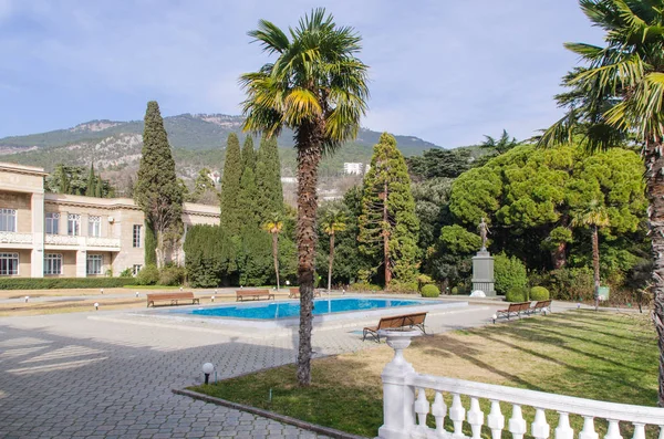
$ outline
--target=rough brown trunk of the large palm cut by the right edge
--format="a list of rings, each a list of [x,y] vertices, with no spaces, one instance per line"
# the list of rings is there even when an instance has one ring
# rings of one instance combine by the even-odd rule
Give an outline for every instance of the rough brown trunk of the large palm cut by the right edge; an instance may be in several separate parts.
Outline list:
[[[650,237],[653,245],[653,283],[654,295],[653,322],[657,331],[660,347],[660,391],[658,405],[664,407],[664,155],[662,140],[649,143],[645,149],[645,179],[650,199],[649,220]]]

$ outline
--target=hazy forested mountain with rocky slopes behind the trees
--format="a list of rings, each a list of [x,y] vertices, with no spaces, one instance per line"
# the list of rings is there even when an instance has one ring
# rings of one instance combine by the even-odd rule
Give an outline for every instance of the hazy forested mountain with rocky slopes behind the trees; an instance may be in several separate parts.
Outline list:
[[[203,167],[221,169],[224,146],[230,133],[243,142],[243,118],[224,114],[180,114],[164,118],[168,140],[174,149],[178,174],[185,179],[195,178]],[[143,121],[91,121],[68,129],[27,136],[0,138],[0,161],[42,166],[48,171],[59,163],[90,166],[107,173],[132,173],[141,159]],[[336,175],[344,161],[369,163],[372,148],[381,133],[362,128],[357,138],[344,145],[321,165],[322,175]],[[396,136],[405,156],[419,155],[437,146],[413,136]],[[258,142],[256,142],[258,146]],[[293,175],[295,151],[292,132],[279,137],[284,175]]]

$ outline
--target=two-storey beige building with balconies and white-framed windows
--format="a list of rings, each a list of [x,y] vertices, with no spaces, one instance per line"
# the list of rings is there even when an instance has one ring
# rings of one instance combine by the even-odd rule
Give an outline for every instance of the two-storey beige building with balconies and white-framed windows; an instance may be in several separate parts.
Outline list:
[[[42,168],[0,163],[0,276],[86,278],[144,264],[143,211],[128,198],[45,194]],[[219,208],[185,203],[185,231]],[[184,261],[181,250],[175,259]]]

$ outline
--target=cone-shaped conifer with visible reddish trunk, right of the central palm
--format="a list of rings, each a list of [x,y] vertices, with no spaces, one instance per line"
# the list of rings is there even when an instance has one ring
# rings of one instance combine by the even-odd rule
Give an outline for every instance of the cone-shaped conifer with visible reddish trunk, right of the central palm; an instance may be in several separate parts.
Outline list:
[[[418,231],[406,161],[396,139],[383,133],[364,177],[359,240],[360,251],[374,269],[383,266],[386,286],[393,276],[401,282],[415,280]]]

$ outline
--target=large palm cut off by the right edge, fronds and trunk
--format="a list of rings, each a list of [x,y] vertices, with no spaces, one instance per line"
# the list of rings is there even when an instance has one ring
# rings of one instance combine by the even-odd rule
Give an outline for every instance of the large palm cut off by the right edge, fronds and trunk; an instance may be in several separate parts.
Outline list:
[[[643,148],[653,249],[653,320],[660,346],[660,405],[664,406],[664,2],[580,0],[604,46],[567,43],[585,65],[572,70],[558,95],[566,115],[539,138],[543,146],[580,142],[591,150]]]

